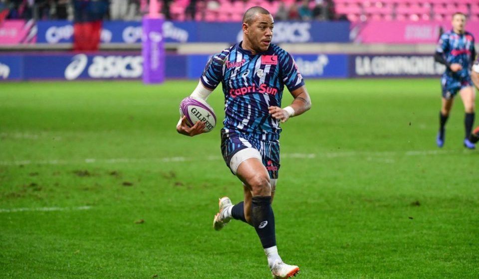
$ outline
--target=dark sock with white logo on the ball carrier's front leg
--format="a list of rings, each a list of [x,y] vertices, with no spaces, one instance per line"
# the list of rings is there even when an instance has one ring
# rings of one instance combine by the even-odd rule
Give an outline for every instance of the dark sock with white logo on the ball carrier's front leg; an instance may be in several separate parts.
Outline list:
[[[263,249],[276,246],[271,196],[251,198],[251,223],[259,236]]]

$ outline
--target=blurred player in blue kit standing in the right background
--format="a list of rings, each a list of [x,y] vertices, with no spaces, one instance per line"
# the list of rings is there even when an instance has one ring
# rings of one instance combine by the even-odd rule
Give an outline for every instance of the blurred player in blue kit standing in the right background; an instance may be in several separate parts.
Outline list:
[[[471,81],[471,66],[476,58],[474,36],[465,30],[466,15],[456,12],[452,19],[453,29],[445,32],[439,39],[434,58],[437,62],[446,65],[442,84],[442,106],[439,113],[439,133],[436,143],[443,147],[446,137],[446,122],[453,106],[454,97],[459,93],[464,103],[466,115],[464,125],[466,136],[464,146],[474,149],[476,145],[470,141],[469,136],[474,125],[476,93]]]

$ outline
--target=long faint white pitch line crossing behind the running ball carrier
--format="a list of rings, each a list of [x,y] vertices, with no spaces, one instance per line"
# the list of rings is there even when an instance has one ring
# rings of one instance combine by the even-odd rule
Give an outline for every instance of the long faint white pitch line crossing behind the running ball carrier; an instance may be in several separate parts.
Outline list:
[[[457,153],[455,150],[414,150],[414,151],[344,151],[344,152],[321,152],[321,153],[284,153],[281,154],[281,158],[298,158],[298,159],[315,159],[315,158],[342,158],[342,157],[355,157],[355,156],[366,156],[366,157],[386,157],[391,156],[421,156],[421,155],[443,155]],[[464,150],[463,153],[468,153],[467,150]],[[206,156],[203,159],[209,161],[222,160],[221,156],[210,155]],[[112,159],[97,159],[97,158],[86,158],[78,160],[18,160],[18,161],[0,161],[0,165],[9,166],[9,165],[29,165],[29,164],[38,164],[38,165],[64,165],[64,164],[79,164],[79,163],[165,163],[165,162],[186,162],[186,161],[195,161],[199,160],[196,157],[163,157],[163,158],[112,158]]]

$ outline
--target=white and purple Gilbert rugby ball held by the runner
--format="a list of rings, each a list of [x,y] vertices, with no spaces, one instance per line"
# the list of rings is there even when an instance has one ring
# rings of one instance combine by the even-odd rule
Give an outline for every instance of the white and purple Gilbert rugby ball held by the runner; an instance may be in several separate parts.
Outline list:
[[[180,116],[186,116],[189,127],[195,125],[197,121],[205,122],[203,131],[210,132],[216,126],[216,115],[213,108],[204,100],[186,97],[180,103]]]

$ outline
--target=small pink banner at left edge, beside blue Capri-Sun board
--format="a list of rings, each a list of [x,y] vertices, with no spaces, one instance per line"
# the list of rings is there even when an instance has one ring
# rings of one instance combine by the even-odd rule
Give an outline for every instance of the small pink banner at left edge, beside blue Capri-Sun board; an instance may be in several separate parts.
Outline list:
[[[36,28],[33,21],[4,20],[0,23],[0,45],[34,43]]]

